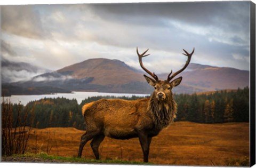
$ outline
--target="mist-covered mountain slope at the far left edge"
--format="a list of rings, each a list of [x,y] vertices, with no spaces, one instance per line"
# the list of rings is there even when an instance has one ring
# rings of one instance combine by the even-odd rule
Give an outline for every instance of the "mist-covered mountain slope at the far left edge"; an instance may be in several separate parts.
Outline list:
[[[11,83],[26,81],[31,77],[50,72],[51,70],[30,65],[25,62],[12,62],[2,58],[1,60],[1,82]]]

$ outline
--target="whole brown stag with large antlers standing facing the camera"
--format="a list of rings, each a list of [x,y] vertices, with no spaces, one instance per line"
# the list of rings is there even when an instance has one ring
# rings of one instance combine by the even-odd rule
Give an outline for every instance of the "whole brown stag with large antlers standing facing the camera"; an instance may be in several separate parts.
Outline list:
[[[114,139],[139,138],[143,152],[143,162],[148,162],[151,139],[164,128],[174,122],[177,115],[177,103],[173,99],[172,88],[181,83],[182,76],[175,78],[187,68],[195,48],[191,53],[183,49],[187,56],[185,65],[178,71],[167,76],[165,81],[158,79],[142,63],[142,58],[147,57],[147,49],[142,54],[137,54],[140,67],[146,71],[146,81],[154,87],[149,98],[137,100],[100,99],[83,105],[82,115],[85,119],[86,131],[81,136],[77,157],[81,157],[87,141],[96,159],[100,159],[99,146],[105,137]]]

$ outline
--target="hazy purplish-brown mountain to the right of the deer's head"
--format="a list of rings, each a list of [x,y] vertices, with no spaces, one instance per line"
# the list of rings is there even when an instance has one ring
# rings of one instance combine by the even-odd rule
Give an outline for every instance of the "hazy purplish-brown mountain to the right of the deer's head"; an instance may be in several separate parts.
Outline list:
[[[161,74],[161,76],[167,75]],[[250,78],[249,71],[246,70],[229,67],[213,67],[197,63],[190,63],[187,69],[179,75],[183,77],[181,85],[189,87],[189,92],[243,88],[249,86]]]

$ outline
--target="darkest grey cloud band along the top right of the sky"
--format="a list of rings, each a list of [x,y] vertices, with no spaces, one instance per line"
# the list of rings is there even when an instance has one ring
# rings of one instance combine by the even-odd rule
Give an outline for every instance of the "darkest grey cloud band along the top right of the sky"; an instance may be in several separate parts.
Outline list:
[[[238,33],[248,32],[250,22],[249,2],[93,4],[90,7],[106,20],[145,28],[169,27],[165,22],[167,19]]]

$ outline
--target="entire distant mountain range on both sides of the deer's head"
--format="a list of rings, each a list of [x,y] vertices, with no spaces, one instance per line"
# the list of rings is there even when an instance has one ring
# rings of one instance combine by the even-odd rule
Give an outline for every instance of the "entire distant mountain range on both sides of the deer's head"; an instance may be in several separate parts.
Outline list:
[[[146,93],[148,85],[143,71],[119,60],[89,59],[57,71],[36,75],[30,80],[2,84],[2,93],[49,94],[71,91],[96,91],[113,93]],[[168,74],[159,74],[165,79]],[[249,86],[249,71],[226,67],[212,67],[190,63],[180,76],[181,84],[175,93],[195,93]],[[6,80],[8,81],[8,80]]]

